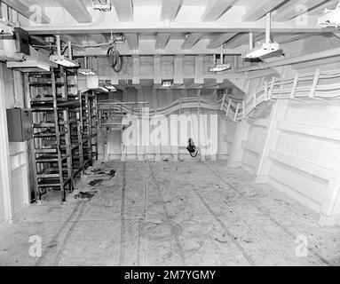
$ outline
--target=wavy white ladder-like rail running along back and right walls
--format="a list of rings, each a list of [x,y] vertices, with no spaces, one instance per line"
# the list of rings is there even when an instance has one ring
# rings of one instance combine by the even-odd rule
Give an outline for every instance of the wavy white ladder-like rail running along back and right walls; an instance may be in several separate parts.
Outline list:
[[[326,101],[340,97],[340,83],[320,83],[320,81],[340,79],[340,72],[337,70],[320,71],[303,75],[296,75],[294,78],[278,79],[273,77],[272,82],[264,83],[261,90],[255,90],[245,99],[233,99],[224,95],[223,99],[213,101],[210,99],[181,98],[170,103],[169,106],[149,108],[149,115],[169,115],[186,108],[206,108],[210,110],[224,111],[225,115],[239,122],[251,114],[257,106],[278,99],[292,100],[317,100]],[[112,103],[105,101],[99,106],[110,106],[108,110],[121,110],[127,114],[141,115],[142,109],[134,106],[146,106],[148,103],[122,102],[115,100]]]

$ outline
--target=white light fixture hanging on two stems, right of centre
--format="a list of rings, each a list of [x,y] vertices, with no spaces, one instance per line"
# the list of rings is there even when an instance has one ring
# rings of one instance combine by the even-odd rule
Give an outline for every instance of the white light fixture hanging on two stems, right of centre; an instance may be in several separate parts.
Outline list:
[[[271,54],[275,51],[280,51],[281,46],[279,43],[272,43],[271,40],[271,12],[268,12],[265,16],[266,25],[265,25],[265,43],[259,43],[259,46],[256,48],[252,48],[252,34],[250,34],[251,40],[249,41],[250,50],[245,51],[243,54],[243,58],[245,59],[258,59],[264,57],[265,55]]]

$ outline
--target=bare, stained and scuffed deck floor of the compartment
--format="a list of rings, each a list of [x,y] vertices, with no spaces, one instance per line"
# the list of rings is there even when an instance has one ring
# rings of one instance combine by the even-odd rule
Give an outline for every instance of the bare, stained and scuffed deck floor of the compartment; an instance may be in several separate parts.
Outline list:
[[[0,225],[0,265],[340,264],[339,227],[224,162],[99,162],[77,187],[96,193]],[[35,235],[41,257],[29,256]]]

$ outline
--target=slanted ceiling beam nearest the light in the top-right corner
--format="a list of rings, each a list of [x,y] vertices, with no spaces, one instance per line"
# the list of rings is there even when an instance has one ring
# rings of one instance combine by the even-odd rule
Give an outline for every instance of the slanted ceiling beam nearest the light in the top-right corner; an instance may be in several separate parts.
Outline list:
[[[290,1],[287,4],[284,4],[273,16],[273,20],[276,21],[286,21],[297,16],[303,15],[304,13],[311,11],[315,7],[320,6],[320,4],[324,4],[328,1],[325,0],[298,0],[298,1]]]

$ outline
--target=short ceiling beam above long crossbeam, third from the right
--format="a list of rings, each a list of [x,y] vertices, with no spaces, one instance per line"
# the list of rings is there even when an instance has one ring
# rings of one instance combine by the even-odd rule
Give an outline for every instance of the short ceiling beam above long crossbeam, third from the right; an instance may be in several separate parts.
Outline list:
[[[202,14],[202,21],[215,21],[233,7],[238,0],[213,0],[209,1],[205,12]]]

